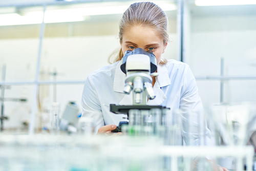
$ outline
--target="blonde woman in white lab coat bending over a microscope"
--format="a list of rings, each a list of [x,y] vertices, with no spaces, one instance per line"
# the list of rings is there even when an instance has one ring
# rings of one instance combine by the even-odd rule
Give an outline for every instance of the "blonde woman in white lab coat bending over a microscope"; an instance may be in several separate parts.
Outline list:
[[[156,56],[159,75],[152,76],[156,98],[148,100],[147,105],[180,109],[184,114],[203,110],[196,80],[189,66],[161,57],[168,42],[167,26],[165,13],[150,2],[132,4],[124,12],[119,25],[121,49],[116,62],[89,75],[83,89],[82,115],[95,119],[95,130],[99,134],[110,133],[120,121],[125,120],[124,115],[110,112],[110,104],[132,105],[132,93],[123,93],[125,74],[120,69],[120,60],[127,50],[142,48],[153,51]],[[205,130],[209,137],[209,130]],[[188,137],[186,134],[185,129],[185,141]]]

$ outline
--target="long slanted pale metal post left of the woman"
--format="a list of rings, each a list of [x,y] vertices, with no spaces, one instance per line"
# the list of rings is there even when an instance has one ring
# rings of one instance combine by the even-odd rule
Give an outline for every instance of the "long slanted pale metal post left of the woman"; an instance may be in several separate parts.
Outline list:
[[[38,77],[40,71],[40,60],[41,60],[41,49],[42,49],[42,39],[44,38],[45,34],[45,12],[46,12],[46,4],[44,5],[44,14],[42,17],[42,23],[40,27],[40,39],[39,39],[39,47],[38,47],[38,56],[37,56],[37,66],[36,66],[36,75],[35,75],[35,85],[34,85],[34,99],[32,101],[31,106],[31,115],[30,115],[30,122],[29,122],[29,135],[34,135],[35,132],[35,113],[36,113],[36,105],[37,105],[37,92],[38,92]]]

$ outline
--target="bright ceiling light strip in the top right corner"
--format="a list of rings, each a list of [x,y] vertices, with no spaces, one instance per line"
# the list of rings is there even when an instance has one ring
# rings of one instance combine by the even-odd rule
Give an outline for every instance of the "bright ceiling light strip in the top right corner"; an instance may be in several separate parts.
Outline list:
[[[197,6],[251,5],[255,0],[195,0]]]

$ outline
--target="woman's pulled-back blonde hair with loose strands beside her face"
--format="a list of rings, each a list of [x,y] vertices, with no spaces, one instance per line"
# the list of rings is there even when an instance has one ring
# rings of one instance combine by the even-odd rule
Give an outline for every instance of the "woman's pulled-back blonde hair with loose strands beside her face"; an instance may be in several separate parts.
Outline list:
[[[163,44],[168,42],[168,19],[164,11],[156,4],[151,2],[140,2],[132,4],[122,16],[119,23],[119,41],[122,42],[123,32],[125,29],[133,26],[148,26],[156,29],[158,35],[163,39]],[[115,50],[109,57],[111,62],[112,56],[115,56],[114,62],[119,61],[123,57],[122,49],[119,52]],[[161,58],[160,64],[167,63],[165,58]]]

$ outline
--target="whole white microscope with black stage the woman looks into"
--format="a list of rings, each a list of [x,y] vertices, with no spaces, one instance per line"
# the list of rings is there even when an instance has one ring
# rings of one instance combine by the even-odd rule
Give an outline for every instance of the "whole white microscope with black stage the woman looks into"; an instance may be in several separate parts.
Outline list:
[[[121,70],[126,74],[125,94],[133,93],[133,105],[110,104],[110,111],[115,114],[127,114],[129,120],[129,110],[151,110],[154,108],[163,109],[160,105],[146,105],[147,98],[152,100],[156,97],[152,87],[152,77],[157,76],[157,60],[153,51],[145,51],[136,48],[133,51],[126,51],[121,60]],[[121,125],[128,122],[119,122],[116,130],[121,132]]]

